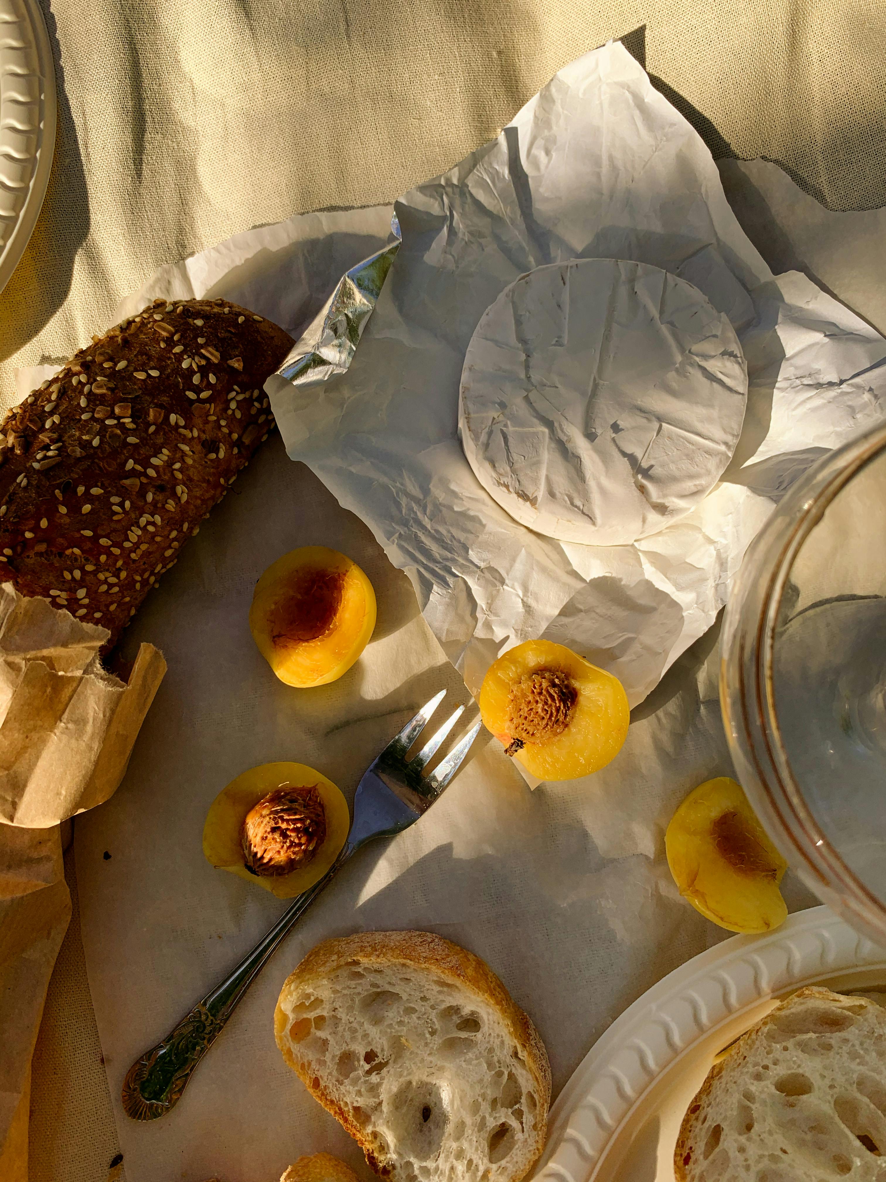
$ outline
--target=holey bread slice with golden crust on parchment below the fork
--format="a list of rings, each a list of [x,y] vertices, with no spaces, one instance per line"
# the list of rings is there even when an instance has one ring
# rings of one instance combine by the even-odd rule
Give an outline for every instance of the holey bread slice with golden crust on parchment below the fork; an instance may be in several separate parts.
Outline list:
[[[395,1182],[517,1182],[541,1154],[545,1046],[495,973],[441,936],[318,944],[274,1027],[308,1091]]]

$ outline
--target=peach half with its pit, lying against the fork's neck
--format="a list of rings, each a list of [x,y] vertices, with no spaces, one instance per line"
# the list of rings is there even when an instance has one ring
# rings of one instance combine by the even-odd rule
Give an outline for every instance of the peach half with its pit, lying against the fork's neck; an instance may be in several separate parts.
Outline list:
[[[287,793],[286,790],[294,792]],[[274,798],[287,795],[294,798],[295,810],[284,810],[281,817],[281,810],[274,808]],[[299,798],[306,807],[298,807]],[[271,805],[271,814],[265,807],[267,805]],[[307,826],[308,837],[321,834],[320,839],[313,844],[311,840],[301,842],[300,856],[291,857],[292,862],[299,863],[297,869],[276,872],[280,868],[275,868],[268,857],[273,850],[262,849],[260,843],[266,840],[276,850],[282,850],[285,856],[291,856],[293,837],[298,849],[301,834],[287,832],[287,821],[292,825],[294,818],[298,827],[305,817],[311,823]],[[250,831],[248,821],[255,819],[258,824]],[[232,780],[210,805],[203,825],[203,853],[217,870],[229,870],[247,882],[263,886],[278,898],[293,898],[323,878],[341,852],[350,827],[347,801],[321,772],[305,764],[261,764]],[[250,832],[252,843],[248,839]],[[256,866],[258,870],[254,869]]]

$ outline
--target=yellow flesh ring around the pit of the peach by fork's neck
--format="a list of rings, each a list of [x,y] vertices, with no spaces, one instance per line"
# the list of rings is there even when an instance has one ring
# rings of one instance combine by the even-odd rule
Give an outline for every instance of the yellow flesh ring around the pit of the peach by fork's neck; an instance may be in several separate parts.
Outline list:
[[[288,875],[259,877],[246,869],[240,844],[246,814],[279,787],[315,787],[326,816],[326,837],[307,865]],[[351,829],[347,801],[332,780],[305,764],[261,764],[237,775],[209,806],[203,825],[203,853],[217,870],[228,870],[263,886],[278,898],[294,898],[326,873],[341,852]]]

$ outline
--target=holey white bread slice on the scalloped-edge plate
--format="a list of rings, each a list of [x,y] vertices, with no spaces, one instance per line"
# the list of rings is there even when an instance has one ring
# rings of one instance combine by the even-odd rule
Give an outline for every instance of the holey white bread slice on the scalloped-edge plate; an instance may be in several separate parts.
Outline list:
[[[886,1182],[886,1011],[800,989],[716,1063],[689,1106],[678,1182]]]

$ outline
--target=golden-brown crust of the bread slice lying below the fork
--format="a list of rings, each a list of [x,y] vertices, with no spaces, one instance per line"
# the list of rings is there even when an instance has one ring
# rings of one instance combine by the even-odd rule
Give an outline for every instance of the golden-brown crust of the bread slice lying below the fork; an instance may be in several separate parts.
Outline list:
[[[324,940],[317,944],[297,966],[284,982],[280,998],[298,989],[311,988],[311,982],[323,980],[344,965],[359,962],[366,965],[415,965],[426,972],[443,978],[452,978],[461,985],[478,994],[483,1001],[493,1006],[502,1017],[514,1041],[521,1047],[528,1067],[539,1091],[539,1130],[538,1141],[523,1177],[535,1164],[545,1147],[547,1134],[547,1110],[551,1104],[551,1064],[541,1035],[528,1014],[514,1002],[500,979],[493,973],[486,961],[474,953],[454,944],[443,936],[431,931],[364,931],[337,940]],[[284,1059],[299,1076],[307,1090],[331,1112],[363,1149],[370,1167],[382,1176],[390,1174],[390,1168],[383,1165],[373,1155],[372,1145],[361,1129],[324,1086],[324,1082],[308,1078],[297,1064],[286,1040],[288,1018],[280,1005],[274,1012],[274,1033],[276,1045]],[[516,1182],[516,1180],[515,1180]]]

